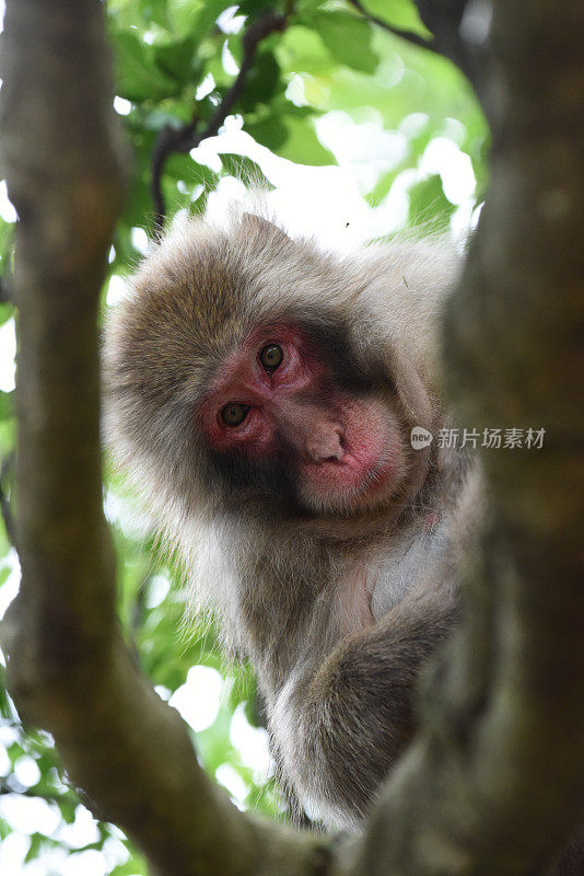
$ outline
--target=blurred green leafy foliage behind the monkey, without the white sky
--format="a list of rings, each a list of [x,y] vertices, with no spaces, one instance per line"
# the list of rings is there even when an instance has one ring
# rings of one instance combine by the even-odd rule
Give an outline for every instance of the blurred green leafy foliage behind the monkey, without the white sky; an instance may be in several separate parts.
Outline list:
[[[233,107],[244,131],[295,163],[326,165],[342,160],[355,176],[366,163],[373,169],[373,178],[369,173],[359,183],[370,208],[382,209],[399,192],[406,198],[407,221],[423,222],[424,227],[443,227],[444,217],[447,220],[460,209],[460,204],[448,199],[443,174],[428,169],[429,146],[447,141],[458,157],[468,157],[477,183],[471,198],[475,204],[480,201],[486,185],[486,125],[468,84],[448,61],[372,25],[348,3],[299,0],[271,4],[276,7],[287,26],[258,44]],[[132,171],[104,298],[112,281],[141,256],[143,231],[153,232],[152,155],[161,132],[188,125],[205,129],[233,84],[245,55],[246,31],[266,9],[261,0],[244,0],[238,7],[229,0],[109,0],[115,107],[131,145]],[[395,26],[427,34],[410,0],[371,0],[367,9]],[[336,120],[336,140],[325,136],[328,128],[319,119]],[[339,131],[360,129],[365,135],[386,131],[399,148],[385,159],[377,154],[373,160],[365,136],[355,140],[348,159],[339,158],[343,153]],[[210,193],[225,177],[269,186],[269,174],[249,157],[221,149],[218,155],[212,166],[189,155],[188,149],[167,155],[161,186],[170,217],[179,209],[201,214]],[[4,288],[11,247],[11,224],[0,218]],[[12,316],[10,303],[0,303],[0,331],[11,331]],[[0,391],[0,456],[4,460],[3,505],[12,516],[14,441],[13,392],[9,388]],[[105,507],[119,561],[120,618],[141,666],[164,698],[185,684],[192,666],[222,669],[222,701],[209,726],[196,734],[198,751],[206,768],[235,789],[241,805],[273,816],[280,804],[272,781],[264,777],[258,783],[250,761],[230,737],[234,714],[241,719],[245,711],[252,726],[261,721],[250,673],[246,668],[221,666],[212,630],[180,633],[180,576],[155,550],[152,558],[155,545],[149,521],[114,476],[108,481]],[[13,593],[16,576],[15,553],[0,523],[0,607]],[[117,876],[144,873],[143,862],[116,828],[97,821],[85,831],[87,841],[81,829],[67,832],[65,826],[80,819],[83,810],[75,793],[62,782],[50,737],[23,729],[5,691],[0,710],[0,776],[4,776],[0,839],[4,849],[11,842],[24,849],[27,863],[23,873],[77,873],[81,867]],[[254,738],[259,740],[259,736]],[[31,821],[28,828],[23,825],[16,808],[5,805],[14,798],[42,802],[44,827],[36,829]],[[91,857],[97,853],[98,858]]]

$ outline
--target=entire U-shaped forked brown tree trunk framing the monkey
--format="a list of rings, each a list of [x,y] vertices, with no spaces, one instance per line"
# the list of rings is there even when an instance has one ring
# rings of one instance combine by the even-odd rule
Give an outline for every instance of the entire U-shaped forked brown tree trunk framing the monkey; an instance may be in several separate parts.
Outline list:
[[[475,5],[477,5],[475,3]],[[34,47],[34,49],[32,48]],[[544,427],[484,456],[492,512],[465,621],[361,840],[238,812],[133,666],[101,509],[95,318],[120,204],[97,0],[9,0],[2,162],[20,215],[19,543],[4,643],[24,717],[159,874],[542,873],[584,808],[584,7],[494,3],[489,203],[445,325],[472,428]],[[152,757],[152,747],[156,750]]]

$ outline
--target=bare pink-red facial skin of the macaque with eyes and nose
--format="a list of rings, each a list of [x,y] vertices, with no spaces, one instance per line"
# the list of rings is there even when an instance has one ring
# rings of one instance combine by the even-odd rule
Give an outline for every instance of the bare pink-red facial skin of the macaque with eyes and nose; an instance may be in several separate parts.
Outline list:
[[[250,463],[284,460],[313,511],[373,508],[407,475],[398,419],[387,402],[337,385],[325,359],[293,326],[254,332],[211,384],[203,433],[219,453]]]

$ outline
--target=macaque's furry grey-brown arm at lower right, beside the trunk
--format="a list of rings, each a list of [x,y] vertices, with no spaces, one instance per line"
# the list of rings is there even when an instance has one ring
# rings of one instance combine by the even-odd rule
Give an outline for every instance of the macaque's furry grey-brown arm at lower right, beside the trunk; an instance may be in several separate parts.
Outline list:
[[[300,784],[331,822],[363,816],[413,729],[421,666],[456,623],[456,597],[420,588],[375,625],[342,639],[296,688]]]

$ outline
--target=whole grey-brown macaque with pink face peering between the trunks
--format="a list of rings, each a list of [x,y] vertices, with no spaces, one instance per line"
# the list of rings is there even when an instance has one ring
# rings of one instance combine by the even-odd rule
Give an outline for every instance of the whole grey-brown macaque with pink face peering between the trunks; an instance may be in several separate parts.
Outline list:
[[[241,210],[171,232],[106,328],[106,439],[252,661],[291,795],[329,827],[362,820],[456,622],[476,472],[410,438],[447,423],[456,273],[447,245],[332,255]]]

